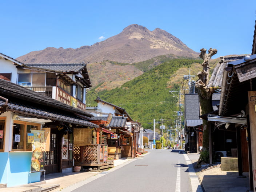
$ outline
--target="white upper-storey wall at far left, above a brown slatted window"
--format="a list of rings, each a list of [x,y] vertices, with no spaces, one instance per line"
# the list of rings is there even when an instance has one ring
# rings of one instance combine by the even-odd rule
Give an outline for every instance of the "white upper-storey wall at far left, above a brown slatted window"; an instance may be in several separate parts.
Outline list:
[[[1,73],[12,73],[12,83],[17,82],[17,68],[12,61],[0,58]]]

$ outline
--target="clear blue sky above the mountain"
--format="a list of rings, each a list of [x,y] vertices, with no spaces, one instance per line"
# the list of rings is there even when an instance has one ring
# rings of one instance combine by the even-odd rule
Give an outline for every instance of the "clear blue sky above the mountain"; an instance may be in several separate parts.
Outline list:
[[[46,47],[78,48],[131,24],[160,28],[213,57],[251,54],[256,0],[1,0],[0,53],[17,58]]]

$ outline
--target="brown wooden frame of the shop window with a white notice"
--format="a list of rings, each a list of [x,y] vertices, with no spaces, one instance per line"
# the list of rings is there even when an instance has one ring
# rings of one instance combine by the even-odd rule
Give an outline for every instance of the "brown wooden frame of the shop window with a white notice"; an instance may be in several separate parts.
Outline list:
[[[13,124],[21,124],[24,125],[24,133],[23,133],[23,149],[12,149],[12,151],[32,151],[32,149],[26,149],[26,142],[27,142],[27,125],[33,125],[37,126],[37,130],[41,130],[41,124],[37,123],[32,123],[32,122],[27,122],[27,121],[19,121],[19,120],[14,120]],[[13,147],[13,124],[12,124],[12,147]],[[20,135],[21,137],[21,135]]]

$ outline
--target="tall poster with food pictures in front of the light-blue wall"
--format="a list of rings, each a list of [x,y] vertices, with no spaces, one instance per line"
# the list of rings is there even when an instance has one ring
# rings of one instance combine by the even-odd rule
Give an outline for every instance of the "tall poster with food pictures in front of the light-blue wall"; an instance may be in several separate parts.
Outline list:
[[[28,136],[29,139],[34,140],[32,143],[31,172],[44,171],[46,149],[44,131],[31,130],[31,134]]]

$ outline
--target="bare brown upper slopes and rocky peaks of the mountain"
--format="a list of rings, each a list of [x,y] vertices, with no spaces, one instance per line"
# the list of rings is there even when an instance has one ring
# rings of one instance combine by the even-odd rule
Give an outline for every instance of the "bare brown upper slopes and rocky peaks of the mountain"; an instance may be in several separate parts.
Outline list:
[[[47,47],[32,51],[17,60],[23,63],[92,63],[112,60],[120,63],[136,63],[159,55],[198,57],[177,37],[156,28],[153,31],[137,24],[129,25],[121,33],[92,46],[77,49]]]

